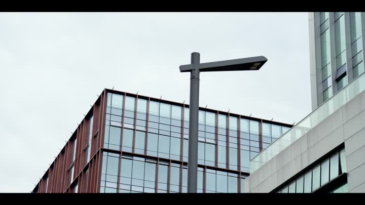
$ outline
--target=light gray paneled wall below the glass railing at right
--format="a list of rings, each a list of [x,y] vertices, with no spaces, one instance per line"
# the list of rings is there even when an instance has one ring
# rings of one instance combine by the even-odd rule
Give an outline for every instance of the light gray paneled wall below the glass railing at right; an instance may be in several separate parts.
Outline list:
[[[349,192],[365,192],[365,91],[324,119],[245,180],[248,192],[270,192],[345,143]]]

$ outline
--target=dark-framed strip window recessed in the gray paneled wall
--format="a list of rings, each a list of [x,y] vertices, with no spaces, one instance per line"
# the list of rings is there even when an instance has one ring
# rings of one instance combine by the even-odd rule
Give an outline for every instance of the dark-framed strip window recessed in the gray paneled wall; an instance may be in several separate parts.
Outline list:
[[[331,156],[321,160],[303,175],[285,182],[285,184],[282,185],[283,188],[278,188],[277,193],[287,193],[287,189],[289,190],[289,193],[311,193],[318,190],[320,187],[331,183],[336,177],[346,172],[345,149],[342,148]],[[333,192],[346,191],[346,186],[347,183],[343,186],[341,185],[338,189],[333,190]]]

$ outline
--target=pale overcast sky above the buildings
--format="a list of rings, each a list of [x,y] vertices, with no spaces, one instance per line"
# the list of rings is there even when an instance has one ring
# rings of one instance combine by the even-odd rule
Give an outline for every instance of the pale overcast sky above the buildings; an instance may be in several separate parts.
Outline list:
[[[0,13],[0,192],[29,192],[104,88],[189,102],[192,52],[263,55],[201,73],[200,106],[293,124],[310,113],[308,13]]]

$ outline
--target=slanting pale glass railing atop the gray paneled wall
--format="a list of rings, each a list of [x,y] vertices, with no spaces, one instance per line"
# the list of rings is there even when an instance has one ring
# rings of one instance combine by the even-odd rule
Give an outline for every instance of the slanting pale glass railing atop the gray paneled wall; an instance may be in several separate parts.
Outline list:
[[[284,135],[278,138],[266,149],[261,151],[257,156],[251,159],[250,173],[258,170],[260,167],[265,165],[270,159],[293,144],[296,140],[301,138],[305,133],[310,131],[316,125],[319,124],[326,117],[330,116],[341,106],[349,102],[359,93],[365,90],[365,73],[362,73],[354,80],[345,86],[341,91],[336,93],[330,99],[326,100],[312,113],[302,119],[296,126],[288,130]]]

